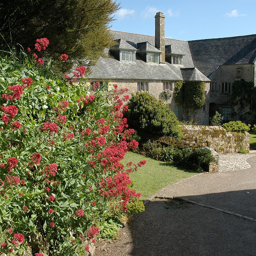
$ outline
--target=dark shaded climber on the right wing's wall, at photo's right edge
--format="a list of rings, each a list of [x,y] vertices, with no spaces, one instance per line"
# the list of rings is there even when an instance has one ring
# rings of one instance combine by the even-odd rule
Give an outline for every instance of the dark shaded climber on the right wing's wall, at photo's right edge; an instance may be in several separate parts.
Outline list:
[[[236,80],[232,84],[230,104],[233,113],[231,116],[236,117],[238,115],[239,120],[245,123],[251,121],[255,123],[256,121],[256,89],[253,87],[253,82],[246,82],[244,79]]]

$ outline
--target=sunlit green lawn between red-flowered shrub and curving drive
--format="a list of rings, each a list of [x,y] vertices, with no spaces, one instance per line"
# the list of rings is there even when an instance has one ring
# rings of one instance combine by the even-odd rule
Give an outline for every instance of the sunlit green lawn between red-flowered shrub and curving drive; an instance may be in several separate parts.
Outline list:
[[[137,172],[130,173],[131,180],[135,181],[133,189],[141,193],[140,200],[145,200],[168,184],[196,174],[196,172],[177,168],[172,166],[172,164],[132,152],[126,153],[125,159],[122,162],[124,164],[128,162],[138,163],[141,160],[146,160],[146,165],[138,168]]]

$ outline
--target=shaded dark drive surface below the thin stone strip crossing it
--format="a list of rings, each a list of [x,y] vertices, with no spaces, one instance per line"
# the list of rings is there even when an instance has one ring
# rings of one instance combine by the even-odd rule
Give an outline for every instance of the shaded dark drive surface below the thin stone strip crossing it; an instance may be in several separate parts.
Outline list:
[[[129,223],[129,255],[256,255],[255,221],[191,203],[166,209],[164,201],[149,202]]]

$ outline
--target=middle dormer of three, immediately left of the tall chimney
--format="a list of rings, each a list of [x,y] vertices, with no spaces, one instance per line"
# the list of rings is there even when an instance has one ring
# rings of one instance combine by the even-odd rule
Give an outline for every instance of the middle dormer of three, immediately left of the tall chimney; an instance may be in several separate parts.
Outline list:
[[[137,43],[137,54],[147,63],[159,64],[161,51],[148,42]]]

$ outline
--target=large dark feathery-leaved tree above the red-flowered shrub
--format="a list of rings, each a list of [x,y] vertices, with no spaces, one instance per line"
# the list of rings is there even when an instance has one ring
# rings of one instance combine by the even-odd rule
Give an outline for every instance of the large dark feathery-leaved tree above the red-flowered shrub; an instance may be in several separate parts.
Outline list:
[[[32,49],[37,38],[48,38],[44,57],[69,55],[63,71],[74,65],[89,67],[113,45],[109,24],[118,9],[113,0],[3,0],[1,49],[16,43]]]

